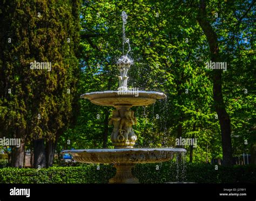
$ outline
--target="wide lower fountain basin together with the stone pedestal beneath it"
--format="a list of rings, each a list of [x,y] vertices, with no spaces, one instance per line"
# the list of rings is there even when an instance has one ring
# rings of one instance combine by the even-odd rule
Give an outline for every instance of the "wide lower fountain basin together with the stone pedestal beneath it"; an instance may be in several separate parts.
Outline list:
[[[131,169],[136,163],[159,163],[169,161],[176,153],[186,152],[182,148],[126,148],[126,149],[78,149],[64,150],[73,159],[82,163],[111,163],[117,174],[109,183],[138,183]]]

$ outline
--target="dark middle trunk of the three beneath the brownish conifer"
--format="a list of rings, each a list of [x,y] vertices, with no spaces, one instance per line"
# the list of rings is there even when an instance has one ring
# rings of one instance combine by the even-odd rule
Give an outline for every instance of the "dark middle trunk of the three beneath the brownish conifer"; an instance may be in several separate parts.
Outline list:
[[[35,140],[34,142],[34,168],[45,168],[45,146],[44,139]]]

